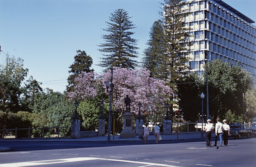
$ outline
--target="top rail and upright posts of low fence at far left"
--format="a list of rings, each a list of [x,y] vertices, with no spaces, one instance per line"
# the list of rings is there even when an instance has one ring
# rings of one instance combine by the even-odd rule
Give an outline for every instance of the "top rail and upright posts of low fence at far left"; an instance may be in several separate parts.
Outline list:
[[[2,136],[2,138],[4,138],[5,136],[7,135],[10,135],[11,134],[11,131],[14,131],[15,130],[15,138],[17,138],[17,130],[28,130],[28,138],[30,138],[30,130],[33,130],[33,129],[42,129],[42,138],[44,138],[44,130],[45,129],[58,129],[58,137],[59,137],[59,130],[60,128],[71,128],[70,126],[67,126],[67,127],[42,127],[42,128],[30,128],[30,126],[28,128],[15,128],[15,129],[5,129],[5,127],[3,127],[3,129],[0,129],[0,136]],[[2,135],[1,135],[1,132],[2,132]],[[13,133],[13,132],[12,132]]]

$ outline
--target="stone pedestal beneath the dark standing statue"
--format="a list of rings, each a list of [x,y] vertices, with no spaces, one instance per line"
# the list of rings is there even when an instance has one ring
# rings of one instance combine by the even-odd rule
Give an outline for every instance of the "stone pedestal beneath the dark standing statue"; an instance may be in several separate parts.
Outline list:
[[[133,131],[133,113],[126,112],[123,114],[123,131],[120,133],[119,138],[135,138],[136,134]]]

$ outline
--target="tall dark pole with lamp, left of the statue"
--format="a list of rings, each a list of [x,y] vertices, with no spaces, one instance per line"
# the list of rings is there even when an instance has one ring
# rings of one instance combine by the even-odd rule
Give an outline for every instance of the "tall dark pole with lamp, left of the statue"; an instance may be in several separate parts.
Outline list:
[[[109,84],[109,81],[111,82],[111,84]],[[107,83],[106,83],[107,91],[108,91],[108,88],[110,86],[108,141],[110,141],[110,135],[111,135],[111,120],[112,120],[111,110],[112,110],[112,95],[113,95],[113,68],[111,68],[111,79],[109,79],[109,81],[107,81]]]

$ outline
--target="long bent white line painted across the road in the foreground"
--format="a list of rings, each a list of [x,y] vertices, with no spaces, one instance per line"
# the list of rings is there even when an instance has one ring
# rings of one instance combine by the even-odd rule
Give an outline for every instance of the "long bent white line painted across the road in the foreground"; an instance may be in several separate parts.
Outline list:
[[[78,158],[67,158],[67,159],[57,159],[57,160],[16,162],[16,163],[9,163],[9,164],[0,164],[0,167],[38,166],[38,165],[49,165],[49,164],[58,164],[58,163],[67,163],[67,162],[88,161],[88,160],[107,160],[107,161],[118,161],[118,162],[127,162],[127,163],[144,164],[144,165],[178,167],[178,166],[166,165],[166,164],[156,164],[156,163],[148,163],[148,162],[127,161],[127,160],[115,160],[115,159],[104,159],[104,158],[95,158],[95,157],[78,157]]]

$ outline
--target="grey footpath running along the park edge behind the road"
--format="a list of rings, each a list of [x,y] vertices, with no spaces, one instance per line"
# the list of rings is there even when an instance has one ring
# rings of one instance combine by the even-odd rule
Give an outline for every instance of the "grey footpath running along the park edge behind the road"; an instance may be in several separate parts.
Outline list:
[[[214,133],[212,136],[214,136]],[[172,133],[172,135],[161,135],[162,140],[186,140],[186,139],[201,139],[205,138],[205,133],[203,135],[204,137],[201,137],[201,132],[179,132],[178,138],[177,133]],[[51,137],[51,138],[4,138],[0,139],[0,152],[8,151],[11,148],[2,147],[1,141],[8,141],[8,142],[23,142],[23,141],[59,141],[59,142],[131,142],[131,141],[141,141],[144,142],[144,140],[139,139],[139,136],[136,136],[136,138],[128,138],[128,139],[120,139],[119,135],[113,135],[110,136],[110,140],[108,141],[108,136],[96,136],[96,137],[86,137],[86,138],[80,138],[80,139],[70,139],[70,138],[58,138],[58,137]],[[155,141],[155,135],[150,135],[147,139],[148,141]]]

